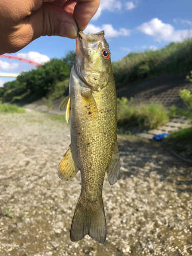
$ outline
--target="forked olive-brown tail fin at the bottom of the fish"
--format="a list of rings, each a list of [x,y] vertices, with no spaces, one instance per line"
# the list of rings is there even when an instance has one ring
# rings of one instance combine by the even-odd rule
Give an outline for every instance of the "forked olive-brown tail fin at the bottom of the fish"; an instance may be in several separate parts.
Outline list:
[[[71,224],[71,241],[79,241],[86,234],[89,234],[92,239],[104,244],[106,239],[106,222],[102,198],[100,202],[101,207],[97,210],[88,210],[81,205],[80,196]]]

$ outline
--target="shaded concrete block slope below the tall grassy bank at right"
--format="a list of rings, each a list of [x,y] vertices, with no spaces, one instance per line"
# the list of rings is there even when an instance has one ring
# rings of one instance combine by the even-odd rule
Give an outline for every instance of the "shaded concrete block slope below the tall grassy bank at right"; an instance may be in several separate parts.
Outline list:
[[[117,97],[134,97],[133,103],[160,102],[164,106],[184,107],[179,91],[191,90],[192,83],[185,81],[186,75],[156,77],[149,80],[121,83],[116,87]]]

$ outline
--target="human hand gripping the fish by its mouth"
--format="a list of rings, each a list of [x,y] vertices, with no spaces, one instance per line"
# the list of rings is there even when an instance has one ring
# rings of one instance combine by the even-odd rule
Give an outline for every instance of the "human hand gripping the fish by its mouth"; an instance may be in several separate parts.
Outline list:
[[[0,55],[17,52],[40,36],[75,38],[100,0],[0,0]],[[77,28],[78,27],[78,28]]]

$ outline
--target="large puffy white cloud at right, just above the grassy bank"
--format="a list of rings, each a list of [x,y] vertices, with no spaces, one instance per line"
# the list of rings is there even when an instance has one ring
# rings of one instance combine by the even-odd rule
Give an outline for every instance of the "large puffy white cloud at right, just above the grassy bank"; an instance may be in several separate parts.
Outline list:
[[[161,41],[183,41],[192,35],[190,30],[177,30],[170,24],[162,23],[158,18],[153,18],[150,22],[145,22],[137,27],[142,33],[155,37],[158,42]]]

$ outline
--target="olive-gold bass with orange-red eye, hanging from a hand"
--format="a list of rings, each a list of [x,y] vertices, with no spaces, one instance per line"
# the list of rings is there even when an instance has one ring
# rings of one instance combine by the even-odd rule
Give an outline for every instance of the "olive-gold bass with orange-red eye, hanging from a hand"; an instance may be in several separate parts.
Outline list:
[[[102,200],[105,172],[110,185],[119,175],[117,97],[109,45],[104,31],[85,35],[78,31],[69,96],[59,109],[70,118],[71,144],[63,156],[58,176],[71,180],[80,170],[81,193],[74,212],[70,238],[88,234],[104,244],[106,222]]]

